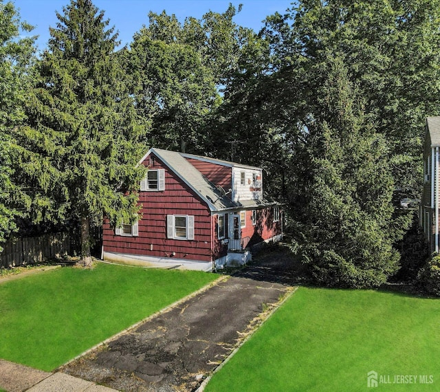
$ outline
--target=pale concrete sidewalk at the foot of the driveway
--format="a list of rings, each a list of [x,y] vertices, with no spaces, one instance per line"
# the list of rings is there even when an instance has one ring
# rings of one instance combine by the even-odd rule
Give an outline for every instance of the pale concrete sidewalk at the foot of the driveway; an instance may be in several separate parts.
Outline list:
[[[32,367],[0,360],[0,388],[8,392],[111,392],[115,389],[96,385],[65,373],[48,373]]]

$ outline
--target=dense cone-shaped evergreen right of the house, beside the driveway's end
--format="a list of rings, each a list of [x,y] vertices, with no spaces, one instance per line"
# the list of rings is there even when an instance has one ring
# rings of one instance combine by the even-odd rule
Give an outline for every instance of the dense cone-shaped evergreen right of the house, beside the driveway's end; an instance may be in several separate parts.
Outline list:
[[[401,235],[386,143],[365,117],[342,57],[329,54],[319,72],[327,81],[316,91],[320,111],[301,157],[296,252],[316,283],[375,287],[396,272],[393,243]]]

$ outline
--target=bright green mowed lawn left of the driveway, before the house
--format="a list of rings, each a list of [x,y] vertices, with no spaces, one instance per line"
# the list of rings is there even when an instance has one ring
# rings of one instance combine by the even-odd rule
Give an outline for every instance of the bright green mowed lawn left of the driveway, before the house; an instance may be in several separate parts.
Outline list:
[[[98,263],[0,284],[0,358],[50,371],[217,279]]]

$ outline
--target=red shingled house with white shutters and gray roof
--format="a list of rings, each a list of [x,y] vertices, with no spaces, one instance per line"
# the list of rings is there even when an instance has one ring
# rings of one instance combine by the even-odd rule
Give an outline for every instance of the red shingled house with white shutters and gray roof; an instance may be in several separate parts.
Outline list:
[[[280,206],[263,197],[261,168],[161,149],[140,161],[142,219],[104,221],[104,260],[212,271],[243,264],[283,236]]]

